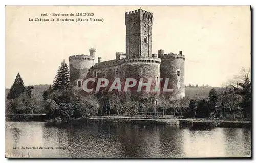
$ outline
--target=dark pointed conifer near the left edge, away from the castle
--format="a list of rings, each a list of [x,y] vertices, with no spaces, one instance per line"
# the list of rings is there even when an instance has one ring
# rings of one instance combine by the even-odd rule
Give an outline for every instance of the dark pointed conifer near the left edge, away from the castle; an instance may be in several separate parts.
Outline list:
[[[22,77],[18,73],[14,80],[14,83],[11,86],[9,94],[7,95],[7,99],[15,99],[24,91],[25,91],[25,86],[24,86]]]

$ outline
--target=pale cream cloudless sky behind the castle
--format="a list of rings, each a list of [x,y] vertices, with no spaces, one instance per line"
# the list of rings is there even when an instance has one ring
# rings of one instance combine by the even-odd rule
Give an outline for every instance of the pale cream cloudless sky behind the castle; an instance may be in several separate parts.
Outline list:
[[[7,6],[6,88],[19,72],[25,85],[52,84],[63,60],[96,49],[96,61],[125,52],[125,11],[153,12],[152,53],[185,55],[185,84],[221,86],[250,68],[249,6]],[[52,13],[94,13],[103,22],[31,22],[78,18]],[[48,16],[41,16],[47,13]],[[49,15],[51,14],[51,16]]]

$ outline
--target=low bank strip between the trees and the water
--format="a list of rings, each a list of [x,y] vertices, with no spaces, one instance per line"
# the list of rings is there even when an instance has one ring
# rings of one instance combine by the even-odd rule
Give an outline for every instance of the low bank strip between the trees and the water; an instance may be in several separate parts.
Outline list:
[[[48,120],[46,115],[17,115],[9,119],[9,121],[39,121],[39,122],[56,122],[56,120]],[[102,123],[131,123],[131,124],[161,124],[175,125],[179,127],[191,128],[251,128],[251,121],[240,120],[221,120],[210,118],[184,118],[184,117],[124,117],[124,116],[92,116],[88,118],[69,118],[68,120],[60,120],[57,122],[102,122]]]

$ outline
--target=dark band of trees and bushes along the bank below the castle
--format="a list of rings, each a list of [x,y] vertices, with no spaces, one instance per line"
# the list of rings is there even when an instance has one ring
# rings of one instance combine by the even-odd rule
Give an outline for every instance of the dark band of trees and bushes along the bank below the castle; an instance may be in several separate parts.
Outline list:
[[[65,65],[65,63],[61,63],[61,65]],[[58,75],[59,72],[56,77],[61,77]],[[251,82],[248,74],[241,79],[236,84],[231,83],[219,89],[211,88],[207,96],[197,98],[186,96],[183,99],[176,99],[163,95],[159,97],[148,95],[148,98],[138,99],[138,97],[133,97],[131,92],[109,94],[102,91],[85,94],[82,90],[69,87],[66,84],[68,82],[62,82],[59,86],[57,83],[61,82],[55,82],[55,87],[49,86],[47,89],[46,86],[43,89],[39,89],[37,86],[23,87],[22,78],[18,74],[7,96],[6,114],[44,113],[49,119],[69,119],[92,115],[250,118]],[[18,96],[16,94],[13,96],[13,92],[18,92]]]

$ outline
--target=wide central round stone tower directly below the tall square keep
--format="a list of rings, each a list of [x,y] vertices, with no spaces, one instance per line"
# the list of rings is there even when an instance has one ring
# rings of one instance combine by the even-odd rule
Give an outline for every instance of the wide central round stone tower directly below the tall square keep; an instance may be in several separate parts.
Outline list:
[[[134,87],[129,88],[134,97],[137,97],[137,99],[145,99],[149,96],[158,96],[160,89],[159,91],[154,90],[156,89],[156,85],[160,85],[160,64],[161,59],[156,57],[122,59],[120,72],[122,88],[124,88],[126,79],[132,78],[137,81]],[[143,86],[143,83],[150,82],[150,80],[151,84],[148,86],[147,90],[147,87]],[[130,82],[129,84],[132,83]]]

